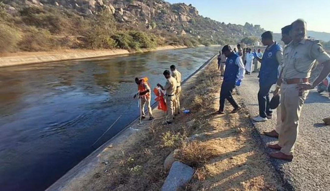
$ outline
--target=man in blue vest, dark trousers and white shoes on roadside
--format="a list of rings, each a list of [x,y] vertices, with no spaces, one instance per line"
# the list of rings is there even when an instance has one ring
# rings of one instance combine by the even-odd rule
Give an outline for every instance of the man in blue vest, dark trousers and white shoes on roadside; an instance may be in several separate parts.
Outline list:
[[[259,116],[252,118],[257,122],[272,118],[272,110],[269,108],[269,90],[277,82],[278,67],[283,58],[282,48],[277,42],[274,42],[272,32],[264,32],[261,35],[261,42],[267,46],[262,59],[254,52],[255,58],[261,62],[258,92]]]

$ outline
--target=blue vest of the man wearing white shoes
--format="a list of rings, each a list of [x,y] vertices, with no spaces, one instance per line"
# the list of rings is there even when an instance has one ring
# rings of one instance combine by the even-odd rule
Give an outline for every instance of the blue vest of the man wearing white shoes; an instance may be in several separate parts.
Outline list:
[[[277,51],[281,50],[278,43],[273,45],[270,49],[266,49],[263,56],[259,72],[260,83],[275,84],[278,79],[279,62],[276,59]]]

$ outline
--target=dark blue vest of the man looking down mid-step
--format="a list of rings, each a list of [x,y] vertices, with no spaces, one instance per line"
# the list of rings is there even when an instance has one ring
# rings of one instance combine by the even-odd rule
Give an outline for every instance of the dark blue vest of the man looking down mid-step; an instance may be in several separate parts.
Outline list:
[[[226,60],[225,73],[223,81],[236,81],[239,67],[236,65],[237,54],[232,53]]]

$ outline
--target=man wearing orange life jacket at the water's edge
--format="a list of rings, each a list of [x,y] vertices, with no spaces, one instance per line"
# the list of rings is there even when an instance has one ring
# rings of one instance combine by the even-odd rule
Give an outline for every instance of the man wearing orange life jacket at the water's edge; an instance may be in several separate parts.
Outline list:
[[[151,89],[148,84],[148,78],[142,78],[141,80],[135,78],[135,83],[138,84],[138,93],[134,95],[134,99],[139,96],[141,99],[140,109],[141,109],[141,119],[146,118],[146,113],[144,111],[144,106],[147,103],[148,112],[149,112],[149,120],[153,120],[152,109],[151,109]]]

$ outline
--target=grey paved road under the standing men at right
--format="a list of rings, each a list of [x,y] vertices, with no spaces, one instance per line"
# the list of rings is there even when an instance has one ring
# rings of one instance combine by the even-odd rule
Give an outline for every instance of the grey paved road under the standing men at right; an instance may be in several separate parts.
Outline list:
[[[238,89],[251,117],[258,115],[258,89],[257,74],[246,75]],[[275,128],[276,111],[274,114],[272,120],[254,123],[260,134]],[[293,186],[292,190],[330,190],[330,126],[323,124],[325,117],[330,117],[328,94],[320,95],[312,90],[302,110],[293,162],[272,159],[275,168]],[[264,135],[261,138],[265,144],[277,140]]]

